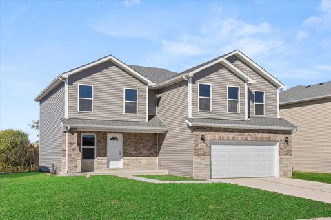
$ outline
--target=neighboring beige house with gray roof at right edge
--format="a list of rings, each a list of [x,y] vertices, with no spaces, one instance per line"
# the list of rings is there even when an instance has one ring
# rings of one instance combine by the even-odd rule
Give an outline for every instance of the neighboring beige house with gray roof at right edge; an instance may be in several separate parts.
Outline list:
[[[331,81],[282,91],[281,117],[298,126],[292,135],[294,170],[331,173]]]

